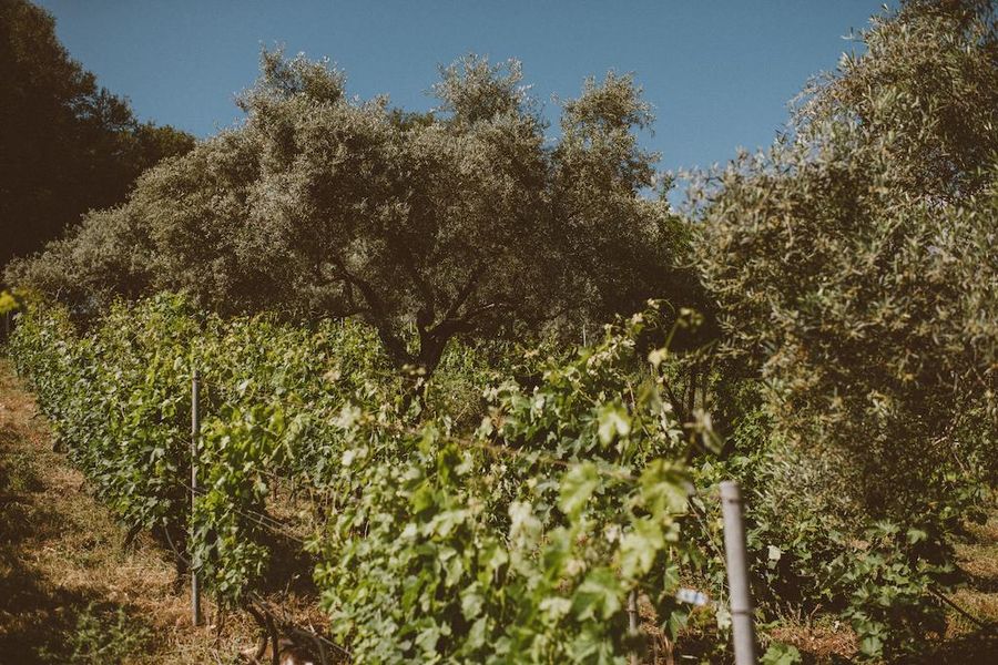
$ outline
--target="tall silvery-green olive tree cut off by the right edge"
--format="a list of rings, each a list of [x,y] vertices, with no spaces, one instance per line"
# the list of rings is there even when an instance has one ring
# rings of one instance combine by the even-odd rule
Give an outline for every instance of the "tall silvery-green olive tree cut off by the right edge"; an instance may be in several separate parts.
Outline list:
[[[696,248],[785,436],[916,520],[998,469],[998,29],[919,0],[863,40],[790,140],[716,174]]]

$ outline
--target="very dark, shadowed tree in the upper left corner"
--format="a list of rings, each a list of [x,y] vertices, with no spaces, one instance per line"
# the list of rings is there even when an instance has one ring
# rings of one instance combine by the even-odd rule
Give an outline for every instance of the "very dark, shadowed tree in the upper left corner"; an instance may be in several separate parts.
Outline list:
[[[0,266],[41,249],[194,140],[135,120],[55,37],[50,13],[0,0]]]

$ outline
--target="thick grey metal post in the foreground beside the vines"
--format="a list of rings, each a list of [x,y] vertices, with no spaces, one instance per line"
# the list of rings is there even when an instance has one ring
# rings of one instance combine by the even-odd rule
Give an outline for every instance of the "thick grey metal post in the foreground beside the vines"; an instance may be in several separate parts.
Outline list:
[[[755,665],[754,607],[748,587],[745,525],[742,521],[742,493],[739,483],[721,483],[721,509],[724,514],[724,557],[727,560],[735,665]]]

